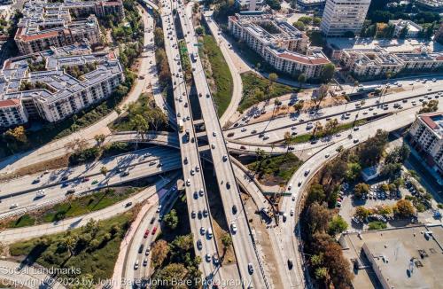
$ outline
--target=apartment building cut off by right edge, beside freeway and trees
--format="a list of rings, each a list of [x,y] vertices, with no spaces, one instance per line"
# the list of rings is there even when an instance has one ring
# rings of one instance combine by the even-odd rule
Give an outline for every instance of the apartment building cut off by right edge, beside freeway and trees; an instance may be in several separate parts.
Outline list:
[[[411,143],[424,160],[443,176],[443,112],[418,115],[409,129]]]

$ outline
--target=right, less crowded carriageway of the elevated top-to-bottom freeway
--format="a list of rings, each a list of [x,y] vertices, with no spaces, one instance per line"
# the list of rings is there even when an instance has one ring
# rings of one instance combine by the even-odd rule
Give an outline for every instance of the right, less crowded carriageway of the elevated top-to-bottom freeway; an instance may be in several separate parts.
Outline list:
[[[198,92],[198,103],[205,121],[206,137],[211,148],[214,171],[233,240],[240,277],[246,287],[268,287],[263,265],[260,262],[252,231],[243,209],[243,202],[232,164],[230,163],[221,125],[218,118],[214,117],[217,115],[217,111],[215,110],[214,99],[206,82],[205,71],[198,57],[198,41],[191,21],[191,5],[186,6],[183,2],[180,3],[178,14],[186,46],[190,53],[192,74]]]

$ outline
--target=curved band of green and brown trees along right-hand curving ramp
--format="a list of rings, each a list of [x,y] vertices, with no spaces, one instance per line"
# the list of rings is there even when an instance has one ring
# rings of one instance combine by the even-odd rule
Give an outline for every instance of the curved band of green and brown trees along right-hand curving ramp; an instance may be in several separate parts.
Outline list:
[[[361,166],[380,160],[386,143],[387,133],[378,130],[376,136],[364,144],[341,152],[320,171],[307,191],[302,213],[305,250],[311,254],[309,264],[312,275],[328,287],[350,287],[352,280],[350,263],[334,239],[337,233],[347,229],[346,222],[334,211],[339,185],[345,179],[355,179],[360,174]],[[361,185],[361,190],[369,188]]]

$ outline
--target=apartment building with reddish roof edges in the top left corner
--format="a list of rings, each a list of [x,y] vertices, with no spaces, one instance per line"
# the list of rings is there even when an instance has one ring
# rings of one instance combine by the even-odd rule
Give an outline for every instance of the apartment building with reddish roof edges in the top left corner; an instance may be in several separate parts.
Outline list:
[[[51,3],[31,0],[24,5],[15,43],[21,54],[31,54],[88,40],[90,45],[100,42],[97,17],[113,14],[124,17],[123,4],[118,1],[66,0]],[[97,16],[97,17],[96,17]]]

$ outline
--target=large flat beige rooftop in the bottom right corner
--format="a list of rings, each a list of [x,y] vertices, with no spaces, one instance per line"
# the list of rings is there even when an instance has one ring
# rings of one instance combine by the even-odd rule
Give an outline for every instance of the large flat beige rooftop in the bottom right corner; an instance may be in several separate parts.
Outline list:
[[[391,288],[440,288],[443,284],[441,225],[352,232],[343,234],[339,242],[346,259],[359,261],[359,269],[354,269],[355,288],[382,287],[373,266]]]

